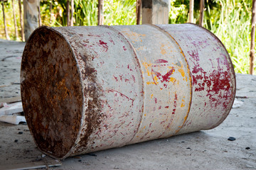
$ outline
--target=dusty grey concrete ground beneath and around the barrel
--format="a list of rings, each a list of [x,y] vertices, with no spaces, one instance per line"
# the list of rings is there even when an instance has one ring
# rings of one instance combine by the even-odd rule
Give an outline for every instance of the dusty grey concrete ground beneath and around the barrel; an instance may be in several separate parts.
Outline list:
[[[0,40],[0,100],[20,96],[24,45]],[[49,169],[256,169],[256,76],[237,74],[236,96],[242,106],[213,130],[70,157]],[[0,169],[49,159],[42,158],[27,125],[0,123]]]

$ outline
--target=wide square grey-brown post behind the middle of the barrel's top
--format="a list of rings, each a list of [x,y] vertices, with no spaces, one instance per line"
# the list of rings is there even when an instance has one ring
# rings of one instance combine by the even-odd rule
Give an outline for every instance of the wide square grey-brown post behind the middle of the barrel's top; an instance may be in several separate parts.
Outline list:
[[[142,0],[142,24],[168,24],[169,0]]]

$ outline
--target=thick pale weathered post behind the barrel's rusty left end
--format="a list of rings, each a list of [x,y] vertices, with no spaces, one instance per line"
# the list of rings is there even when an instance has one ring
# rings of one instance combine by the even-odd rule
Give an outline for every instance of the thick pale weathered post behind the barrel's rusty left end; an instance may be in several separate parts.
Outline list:
[[[38,28],[38,6],[40,0],[23,0],[25,40]]]

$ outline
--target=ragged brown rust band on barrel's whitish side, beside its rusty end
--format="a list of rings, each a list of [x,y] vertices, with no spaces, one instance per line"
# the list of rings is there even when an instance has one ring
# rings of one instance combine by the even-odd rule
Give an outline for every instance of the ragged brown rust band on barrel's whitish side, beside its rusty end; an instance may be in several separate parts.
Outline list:
[[[80,141],[75,147],[73,154],[90,148],[93,145],[94,139],[92,139],[92,133],[100,130],[100,124],[102,123],[102,102],[100,96],[103,94],[102,87],[97,82],[97,70],[92,67],[92,60],[95,58],[94,55],[90,54],[90,47],[85,49],[84,45],[81,45],[80,39],[76,36],[69,36],[73,33],[71,30],[63,30],[63,33],[71,42],[75,56],[80,62],[81,78],[87,84],[84,84],[83,95],[85,98],[85,127],[82,127],[80,134]],[[92,148],[93,149],[93,148]]]

